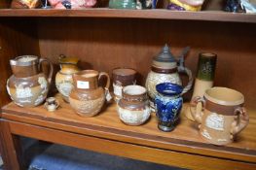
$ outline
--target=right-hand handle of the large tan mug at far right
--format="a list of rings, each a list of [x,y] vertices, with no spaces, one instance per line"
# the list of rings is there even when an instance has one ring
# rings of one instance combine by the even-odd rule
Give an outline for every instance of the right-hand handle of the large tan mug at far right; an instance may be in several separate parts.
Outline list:
[[[238,134],[249,123],[249,116],[244,107],[238,107],[235,110],[236,118],[232,123],[231,134]]]

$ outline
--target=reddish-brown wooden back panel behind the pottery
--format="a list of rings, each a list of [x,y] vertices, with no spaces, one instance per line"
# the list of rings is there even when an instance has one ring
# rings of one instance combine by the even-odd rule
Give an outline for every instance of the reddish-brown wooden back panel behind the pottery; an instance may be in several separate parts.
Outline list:
[[[60,53],[81,58],[83,69],[111,74],[115,67],[132,67],[144,85],[152,57],[167,43],[178,55],[191,51],[186,65],[197,69],[201,51],[218,54],[215,85],[238,89],[246,105],[256,102],[256,24],[119,18],[43,18],[38,20],[42,56],[55,63]],[[189,95],[186,97],[189,98]]]

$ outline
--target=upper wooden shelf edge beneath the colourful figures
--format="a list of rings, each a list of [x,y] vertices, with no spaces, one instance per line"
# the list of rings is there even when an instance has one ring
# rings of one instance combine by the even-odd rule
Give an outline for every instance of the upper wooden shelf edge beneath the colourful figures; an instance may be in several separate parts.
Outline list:
[[[114,10],[92,8],[85,10],[26,10],[1,9],[0,17],[126,17],[126,18],[160,18],[184,20],[209,20],[231,22],[256,22],[256,15],[233,14],[220,11],[178,12],[165,9],[157,10]]]

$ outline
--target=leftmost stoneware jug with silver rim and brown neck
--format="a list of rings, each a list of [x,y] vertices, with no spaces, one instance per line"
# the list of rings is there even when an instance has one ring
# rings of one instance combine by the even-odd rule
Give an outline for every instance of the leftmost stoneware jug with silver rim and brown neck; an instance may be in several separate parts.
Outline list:
[[[41,63],[50,65],[49,76],[41,72]],[[7,91],[21,107],[35,107],[44,102],[53,76],[53,65],[46,58],[22,55],[10,60],[13,75],[7,81]]]

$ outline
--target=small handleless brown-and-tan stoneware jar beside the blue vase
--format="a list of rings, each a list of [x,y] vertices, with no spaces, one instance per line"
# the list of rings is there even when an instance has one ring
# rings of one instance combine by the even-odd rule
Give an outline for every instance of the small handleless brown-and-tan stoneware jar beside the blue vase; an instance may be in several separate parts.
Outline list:
[[[150,117],[147,89],[140,85],[127,85],[123,97],[118,102],[120,119],[128,125],[140,125]]]

